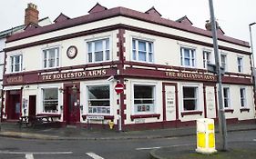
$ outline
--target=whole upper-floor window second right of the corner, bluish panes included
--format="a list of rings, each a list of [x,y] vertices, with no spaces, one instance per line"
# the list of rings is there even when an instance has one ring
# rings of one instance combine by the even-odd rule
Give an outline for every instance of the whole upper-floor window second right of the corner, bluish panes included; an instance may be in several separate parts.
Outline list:
[[[195,66],[195,50],[190,48],[180,48],[181,65],[194,67]]]

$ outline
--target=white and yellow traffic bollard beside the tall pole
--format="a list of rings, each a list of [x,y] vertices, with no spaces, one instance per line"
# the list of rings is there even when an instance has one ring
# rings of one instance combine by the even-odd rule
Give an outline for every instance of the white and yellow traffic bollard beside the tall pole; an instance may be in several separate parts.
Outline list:
[[[213,119],[197,120],[197,149],[196,152],[201,154],[216,153],[215,149],[215,133]]]

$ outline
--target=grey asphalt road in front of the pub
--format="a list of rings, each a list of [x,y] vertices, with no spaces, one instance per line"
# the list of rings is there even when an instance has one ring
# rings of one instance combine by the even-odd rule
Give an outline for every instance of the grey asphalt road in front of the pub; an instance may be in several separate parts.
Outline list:
[[[217,141],[218,136],[217,136]],[[256,146],[256,130],[228,134],[229,145]],[[196,147],[196,136],[137,140],[46,141],[0,138],[0,159],[148,159],[159,147]]]

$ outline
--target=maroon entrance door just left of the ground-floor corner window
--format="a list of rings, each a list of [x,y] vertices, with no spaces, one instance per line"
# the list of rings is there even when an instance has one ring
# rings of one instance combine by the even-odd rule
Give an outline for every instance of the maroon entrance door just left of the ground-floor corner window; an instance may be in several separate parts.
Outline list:
[[[74,91],[74,86],[67,86],[65,90],[65,120],[67,124],[80,122],[79,93]]]

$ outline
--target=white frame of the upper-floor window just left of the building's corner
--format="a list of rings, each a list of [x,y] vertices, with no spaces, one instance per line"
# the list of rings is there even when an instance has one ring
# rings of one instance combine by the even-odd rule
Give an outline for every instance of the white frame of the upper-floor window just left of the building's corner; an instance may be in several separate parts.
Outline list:
[[[108,39],[108,50],[107,50],[107,39]],[[102,61],[95,61],[95,42],[96,41],[102,41],[102,51],[103,51],[103,60]],[[89,62],[89,53],[88,53],[88,44],[91,43],[91,54],[92,54],[92,61]],[[92,63],[102,63],[102,62],[108,62],[112,60],[112,52],[111,52],[111,38],[109,36],[106,37],[100,37],[100,38],[94,38],[94,39],[88,39],[86,40],[86,56],[87,56],[87,64]],[[109,52],[109,59],[107,60],[107,51]]]

